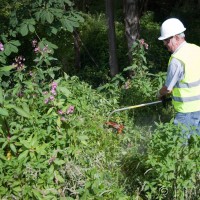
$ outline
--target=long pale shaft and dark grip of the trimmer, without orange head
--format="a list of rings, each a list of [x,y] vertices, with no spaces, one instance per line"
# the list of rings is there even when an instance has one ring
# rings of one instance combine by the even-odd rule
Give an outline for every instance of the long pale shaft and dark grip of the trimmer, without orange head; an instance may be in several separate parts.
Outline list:
[[[163,103],[163,105],[165,106],[166,102],[171,101],[171,100],[172,100],[171,98],[163,98],[162,100],[159,100],[159,101],[154,101],[154,102],[150,102],[150,103],[143,103],[143,104],[139,104],[139,105],[135,105],[135,106],[128,106],[128,107],[125,107],[125,108],[116,109],[116,110],[113,110],[108,115],[108,121],[110,119],[110,116],[115,112],[120,112],[120,111],[123,111],[123,110],[129,110],[129,109],[133,109],[133,108],[140,108],[140,107],[144,107],[144,106],[150,106],[150,105],[154,105],[154,104],[158,104],[158,103]]]

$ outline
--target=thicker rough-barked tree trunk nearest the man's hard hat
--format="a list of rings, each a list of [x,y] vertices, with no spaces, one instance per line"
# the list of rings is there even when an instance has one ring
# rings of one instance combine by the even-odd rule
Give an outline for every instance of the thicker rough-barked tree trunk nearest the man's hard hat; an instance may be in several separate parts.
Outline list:
[[[125,34],[128,42],[130,61],[132,60],[132,45],[139,38],[139,18],[141,12],[139,3],[139,0],[123,0]]]

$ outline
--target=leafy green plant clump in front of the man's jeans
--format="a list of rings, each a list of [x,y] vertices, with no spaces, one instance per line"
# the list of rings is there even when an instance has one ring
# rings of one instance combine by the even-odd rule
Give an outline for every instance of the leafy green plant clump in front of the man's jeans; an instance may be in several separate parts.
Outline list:
[[[173,122],[157,124],[145,157],[148,199],[197,199],[199,197],[199,135],[188,139],[188,130]]]

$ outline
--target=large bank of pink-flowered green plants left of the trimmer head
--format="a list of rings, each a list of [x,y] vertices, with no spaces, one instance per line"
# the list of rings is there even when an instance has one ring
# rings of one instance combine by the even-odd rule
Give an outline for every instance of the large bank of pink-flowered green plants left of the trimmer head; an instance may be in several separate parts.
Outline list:
[[[57,77],[54,45],[33,46],[35,66],[17,56],[0,71],[1,199],[125,199],[113,162],[120,140],[103,126],[111,102],[77,77]]]

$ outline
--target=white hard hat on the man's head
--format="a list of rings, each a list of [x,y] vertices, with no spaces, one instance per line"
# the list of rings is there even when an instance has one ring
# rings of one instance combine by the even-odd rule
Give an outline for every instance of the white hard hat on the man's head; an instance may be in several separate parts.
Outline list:
[[[171,36],[182,33],[186,30],[183,23],[176,18],[170,18],[163,22],[160,32],[161,36],[158,38],[159,40],[167,39]]]

